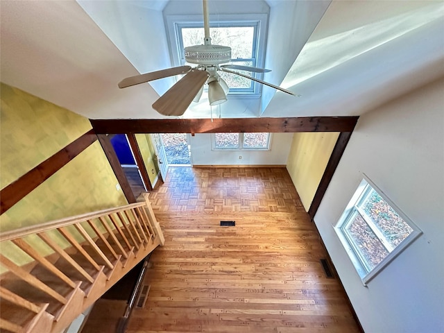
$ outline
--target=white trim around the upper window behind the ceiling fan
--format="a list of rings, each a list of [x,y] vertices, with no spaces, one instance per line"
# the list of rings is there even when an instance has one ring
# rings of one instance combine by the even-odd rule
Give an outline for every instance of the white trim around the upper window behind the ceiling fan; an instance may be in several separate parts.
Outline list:
[[[171,62],[174,67],[182,66],[182,58],[179,42],[178,42],[178,24],[180,25],[192,25],[203,24],[202,15],[166,15],[165,22],[167,24],[167,39],[169,42],[169,50]],[[242,25],[257,24],[257,54],[255,67],[264,67],[264,57],[266,48],[266,26],[268,25],[267,14],[231,14],[231,15],[210,15],[210,25],[218,24],[218,22],[233,22]],[[211,34],[211,28],[210,28]],[[234,74],[233,74],[234,75]],[[262,73],[253,73],[255,78],[262,80]],[[176,77],[176,80],[180,78]],[[262,85],[253,81],[253,92],[229,92],[231,98],[249,98],[257,99],[262,92]]]

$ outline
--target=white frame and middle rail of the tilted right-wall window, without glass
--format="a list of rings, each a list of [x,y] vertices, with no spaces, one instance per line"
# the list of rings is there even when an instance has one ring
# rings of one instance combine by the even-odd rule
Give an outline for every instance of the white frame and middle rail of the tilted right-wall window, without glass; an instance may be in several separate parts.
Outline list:
[[[372,189],[374,189],[377,194],[379,194],[379,196],[381,196],[382,199],[384,199],[386,203],[388,203],[388,205],[390,205],[391,208],[395,210],[395,212],[397,212],[404,222],[407,223],[412,229],[409,236],[407,236],[401,241],[400,244],[398,244],[398,246],[395,246],[394,248],[391,244],[386,242],[385,237],[382,236],[382,232],[380,232],[380,230],[373,225],[373,221],[369,220],[366,213],[363,212],[361,207],[359,207],[359,205],[364,203]],[[386,257],[384,257],[384,259],[382,259],[382,261],[373,268],[368,265],[364,255],[361,253],[359,248],[357,248],[355,241],[351,239],[350,234],[348,234],[346,230],[350,223],[355,220],[357,214],[359,214],[362,219],[366,221],[367,225],[375,233],[379,241],[382,243],[382,246],[384,246],[388,252],[388,255],[386,255]],[[405,248],[407,248],[407,246],[417,239],[420,234],[422,234],[420,228],[418,228],[418,226],[413,223],[413,221],[411,221],[411,219],[409,219],[409,217],[404,214],[404,212],[402,212],[402,210],[400,210],[400,208],[395,205],[390,198],[386,196],[386,194],[384,194],[384,191],[379,189],[379,187],[377,187],[375,183],[373,183],[365,174],[363,175],[363,179],[357,187],[355,194],[352,195],[350,202],[348,203],[347,207],[345,207],[339,221],[336,223],[336,225],[334,225],[334,230],[339,237],[341,244],[345,248],[345,252],[348,254],[348,257],[350,257],[353,266],[355,266],[364,286],[366,286],[370,280],[375,278],[375,276],[381,272],[393,259],[395,259],[395,257],[397,257]],[[390,250],[387,248],[387,246],[390,248]]]

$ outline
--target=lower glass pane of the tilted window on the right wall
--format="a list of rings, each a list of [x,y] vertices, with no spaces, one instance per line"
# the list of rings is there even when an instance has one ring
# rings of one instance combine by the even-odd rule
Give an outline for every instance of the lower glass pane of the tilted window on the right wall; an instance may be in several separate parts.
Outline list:
[[[386,248],[360,214],[356,214],[345,226],[345,232],[361,252],[370,270],[388,255]]]

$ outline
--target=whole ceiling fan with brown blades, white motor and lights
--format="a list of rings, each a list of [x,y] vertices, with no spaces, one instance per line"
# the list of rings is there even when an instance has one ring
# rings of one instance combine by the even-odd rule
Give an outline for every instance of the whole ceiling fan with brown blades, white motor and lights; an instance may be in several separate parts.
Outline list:
[[[210,105],[218,105],[227,101],[229,87],[225,80],[219,76],[218,71],[243,76],[263,85],[268,85],[275,89],[279,89],[287,94],[294,95],[293,92],[266,83],[257,78],[241,74],[230,69],[238,69],[242,71],[250,71],[256,73],[265,73],[269,69],[257,67],[241,66],[241,65],[221,65],[231,61],[231,48],[229,46],[213,45],[210,37],[210,24],[207,8],[207,0],[203,0],[203,23],[205,29],[205,37],[203,45],[194,45],[185,47],[185,60],[196,67],[180,66],[160,71],[152,71],[146,74],[130,76],[119,82],[119,88],[130,87],[146,83],[159,78],[167,78],[185,74],[176,84],[173,85],[163,96],[153,103],[153,109],[165,116],[181,116],[185,113],[192,101],[199,101],[203,92],[203,86],[208,84],[208,101]]]

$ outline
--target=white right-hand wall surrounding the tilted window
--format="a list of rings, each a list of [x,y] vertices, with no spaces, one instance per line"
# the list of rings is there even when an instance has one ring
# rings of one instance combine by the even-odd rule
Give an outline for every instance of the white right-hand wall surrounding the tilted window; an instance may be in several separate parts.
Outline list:
[[[444,332],[444,79],[366,113],[314,218],[366,333]],[[423,234],[364,287],[333,230],[362,174]]]

